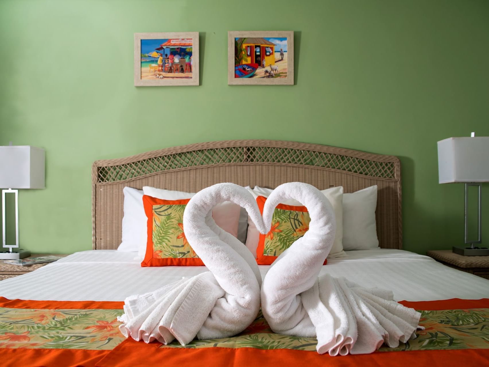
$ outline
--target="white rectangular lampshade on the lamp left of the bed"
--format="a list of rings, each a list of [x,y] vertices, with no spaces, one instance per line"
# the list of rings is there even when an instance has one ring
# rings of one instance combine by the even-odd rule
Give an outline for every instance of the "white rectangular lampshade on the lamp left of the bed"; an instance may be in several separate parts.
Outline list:
[[[0,146],[0,188],[44,188],[44,149]]]

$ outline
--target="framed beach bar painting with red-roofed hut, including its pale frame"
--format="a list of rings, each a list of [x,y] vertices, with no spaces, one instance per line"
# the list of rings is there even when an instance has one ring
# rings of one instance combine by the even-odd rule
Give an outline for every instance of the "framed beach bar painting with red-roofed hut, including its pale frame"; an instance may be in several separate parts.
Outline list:
[[[134,85],[199,85],[199,32],[134,33]]]

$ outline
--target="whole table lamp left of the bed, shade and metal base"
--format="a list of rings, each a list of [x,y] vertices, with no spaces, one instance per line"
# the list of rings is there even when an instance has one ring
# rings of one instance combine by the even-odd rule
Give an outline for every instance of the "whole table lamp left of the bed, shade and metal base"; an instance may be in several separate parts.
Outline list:
[[[2,211],[2,246],[8,251],[0,252],[0,259],[22,259],[30,251],[19,249],[19,190],[44,188],[44,149],[29,145],[0,146],[0,188]],[[15,245],[6,243],[5,194],[15,194]],[[17,249],[17,250],[13,250]]]

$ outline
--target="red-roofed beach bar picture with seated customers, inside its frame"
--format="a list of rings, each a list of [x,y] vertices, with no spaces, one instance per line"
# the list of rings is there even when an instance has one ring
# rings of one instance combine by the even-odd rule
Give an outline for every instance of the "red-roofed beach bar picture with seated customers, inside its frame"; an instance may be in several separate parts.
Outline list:
[[[191,79],[192,39],[141,40],[141,79]]]

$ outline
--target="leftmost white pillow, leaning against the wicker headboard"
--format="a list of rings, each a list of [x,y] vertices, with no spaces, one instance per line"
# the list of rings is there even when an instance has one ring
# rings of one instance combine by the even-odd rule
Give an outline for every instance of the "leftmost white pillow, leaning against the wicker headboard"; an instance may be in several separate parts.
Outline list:
[[[143,190],[124,187],[124,217],[122,218],[122,242],[118,251],[135,252],[148,238],[147,218],[143,207]]]

